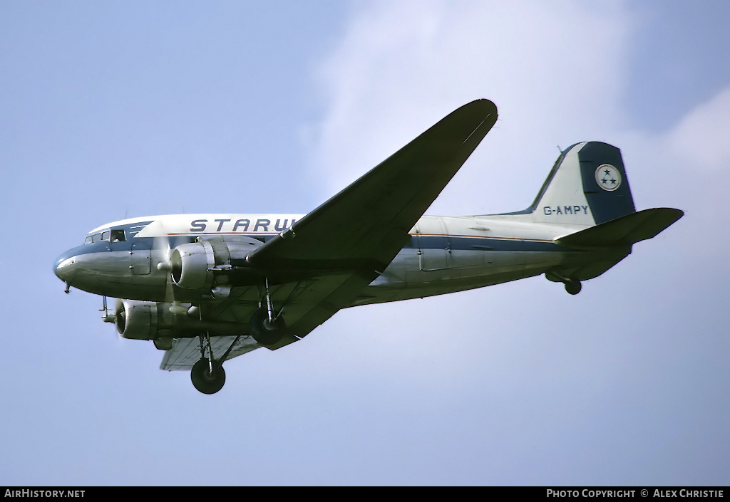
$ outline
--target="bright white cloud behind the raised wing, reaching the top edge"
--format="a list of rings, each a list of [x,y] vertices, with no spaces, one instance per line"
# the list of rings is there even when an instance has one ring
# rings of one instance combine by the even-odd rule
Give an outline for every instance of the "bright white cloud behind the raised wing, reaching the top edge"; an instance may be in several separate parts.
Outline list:
[[[616,2],[362,4],[318,72],[326,115],[310,131],[311,156],[325,195],[488,98],[500,120],[434,209],[523,209],[556,145],[602,139],[621,121],[629,19]]]

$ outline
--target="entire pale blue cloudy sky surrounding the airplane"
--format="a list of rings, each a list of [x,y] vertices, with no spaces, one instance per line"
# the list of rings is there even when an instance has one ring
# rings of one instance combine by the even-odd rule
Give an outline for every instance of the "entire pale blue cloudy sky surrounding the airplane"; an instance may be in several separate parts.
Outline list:
[[[3,484],[727,484],[725,1],[0,1]],[[543,277],[339,312],[197,393],[55,256],[125,216],[310,211],[461,104],[430,214],[529,206],[621,147],[685,217]]]

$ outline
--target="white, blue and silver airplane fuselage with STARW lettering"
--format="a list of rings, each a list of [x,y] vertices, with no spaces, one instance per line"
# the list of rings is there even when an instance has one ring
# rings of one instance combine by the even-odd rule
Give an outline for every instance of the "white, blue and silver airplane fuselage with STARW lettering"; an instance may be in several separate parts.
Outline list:
[[[169,260],[174,247],[243,239],[253,250],[301,217],[200,214],[121,220],[91,231],[85,244],[56,260],[55,271],[89,293],[165,301],[169,270],[160,264]],[[410,242],[353,305],[423,298],[544,274],[588,254],[553,242],[557,236],[582,228],[520,221],[519,215],[423,216],[410,231]],[[246,279],[234,277],[234,285],[243,285],[241,280]],[[175,298],[201,299],[199,292],[182,288],[176,288]]]

